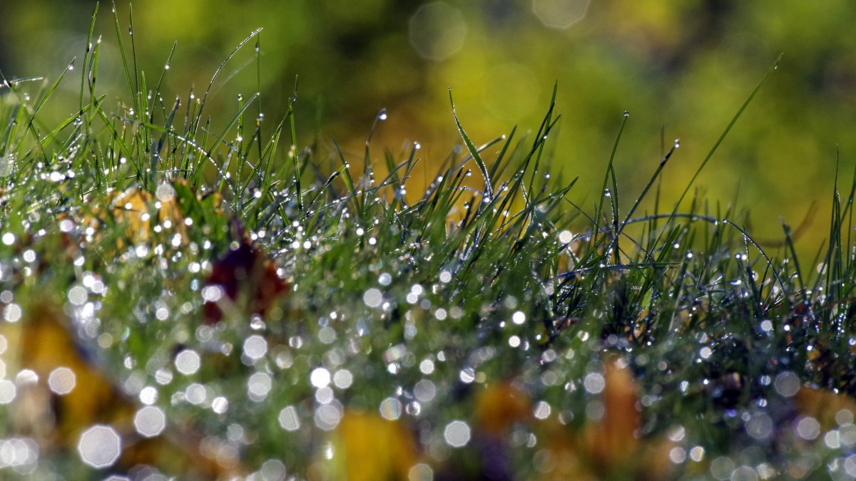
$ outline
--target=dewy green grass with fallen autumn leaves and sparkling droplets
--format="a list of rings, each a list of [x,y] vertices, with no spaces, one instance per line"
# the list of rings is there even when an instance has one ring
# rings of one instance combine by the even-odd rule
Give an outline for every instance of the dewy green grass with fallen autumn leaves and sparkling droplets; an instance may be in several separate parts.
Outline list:
[[[258,94],[207,112],[232,56],[165,99],[114,20],[125,97],[95,15],[79,72],[0,89],[4,478],[856,477],[856,181],[812,262],[681,208],[695,176],[639,212],[677,144],[623,215],[614,150],[589,211],[549,175],[554,93],[482,146],[453,105],[464,148],[408,192],[418,145],[358,172]]]

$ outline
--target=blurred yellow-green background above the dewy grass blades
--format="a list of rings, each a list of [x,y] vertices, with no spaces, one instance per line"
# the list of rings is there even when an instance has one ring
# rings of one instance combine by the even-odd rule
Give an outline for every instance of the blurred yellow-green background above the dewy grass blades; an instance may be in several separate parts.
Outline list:
[[[56,78],[82,55],[93,8],[80,0],[3,0],[3,74]],[[358,158],[385,108],[389,120],[372,138],[374,151],[397,155],[419,141],[426,174],[460,142],[447,87],[467,133],[483,143],[515,124],[538,128],[558,82],[554,175],[580,175],[572,197],[591,205],[628,110],[615,160],[624,210],[656,168],[663,139],[668,148],[680,138],[663,175],[663,202],[674,203],[783,53],[696,186],[723,207],[738,198],[752,211],[752,232],[764,238],[781,237],[780,216],[795,226],[817,202],[799,241],[807,252],[828,233],[836,146],[846,179],[856,156],[852,1],[145,0],[133,8],[136,55],[150,85],[177,41],[164,91],[187,98],[193,86],[200,94],[229,51],[264,27],[260,82],[251,43],[224,70],[208,114],[230,114],[237,93],[260,90],[273,124],[299,75],[298,130],[307,143],[317,137],[325,151],[336,137]],[[117,9],[128,45],[128,4]],[[101,5],[97,34],[104,38],[99,82],[116,98],[127,95],[110,3]],[[74,77],[63,85],[68,92],[80,88]],[[73,111],[74,98],[56,102],[56,112]]]

